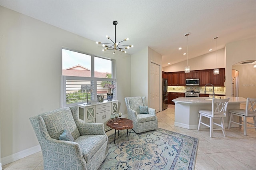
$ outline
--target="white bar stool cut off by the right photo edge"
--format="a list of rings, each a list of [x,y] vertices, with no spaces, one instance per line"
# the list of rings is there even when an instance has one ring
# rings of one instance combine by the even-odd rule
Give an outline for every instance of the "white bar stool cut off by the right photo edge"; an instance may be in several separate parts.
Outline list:
[[[228,129],[230,129],[232,123],[239,125],[239,128],[244,125],[244,135],[247,136],[247,128],[254,128],[256,130],[256,99],[247,98],[245,109],[230,109],[230,119],[228,124]],[[239,116],[239,122],[232,121],[233,116]],[[247,118],[252,117],[254,123],[247,122]],[[243,118],[243,120],[242,120]],[[254,125],[254,127],[247,127],[247,124]]]

